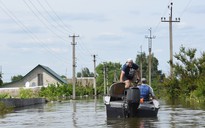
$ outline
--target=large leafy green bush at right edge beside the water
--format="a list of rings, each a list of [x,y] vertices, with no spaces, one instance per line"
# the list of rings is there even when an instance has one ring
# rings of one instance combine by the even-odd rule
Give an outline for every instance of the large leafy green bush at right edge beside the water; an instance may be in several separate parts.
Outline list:
[[[205,99],[205,53],[196,58],[196,51],[182,46],[179,53],[174,55],[177,59],[173,64],[174,76],[164,82],[170,96]]]

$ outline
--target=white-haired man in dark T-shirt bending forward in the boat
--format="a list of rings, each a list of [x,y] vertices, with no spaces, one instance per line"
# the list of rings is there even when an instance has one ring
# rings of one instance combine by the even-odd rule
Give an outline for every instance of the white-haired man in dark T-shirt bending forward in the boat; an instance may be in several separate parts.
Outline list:
[[[132,82],[140,80],[139,66],[133,63],[132,59],[128,59],[122,66],[120,82],[125,83],[125,88],[129,88]]]

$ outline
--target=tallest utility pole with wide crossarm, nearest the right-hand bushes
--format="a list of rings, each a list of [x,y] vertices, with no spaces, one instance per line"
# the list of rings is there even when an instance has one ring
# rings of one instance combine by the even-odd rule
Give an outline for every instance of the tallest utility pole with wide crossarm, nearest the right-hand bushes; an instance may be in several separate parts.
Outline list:
[[[170,40],[170,76],[173,76],[173,44],[172,44],[172,22],[180,22],[180,18],[175,18],[172,20],[172,5],[171,3],[168,8],[170,9],[169,20],[166,20],[165,17],[161,17],[161,22],[169,22],[169,40]]]

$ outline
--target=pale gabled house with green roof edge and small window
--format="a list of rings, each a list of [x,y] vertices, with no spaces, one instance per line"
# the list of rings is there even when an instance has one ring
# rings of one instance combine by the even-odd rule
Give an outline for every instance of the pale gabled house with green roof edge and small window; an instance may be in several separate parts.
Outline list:
[[[4,87],[38,87],[48,86],[49,84],[66,84],[65,79],[61,78],[57,73],[49,67],[37,65],[33,70],[26,74],[21,80],[7,83]]]

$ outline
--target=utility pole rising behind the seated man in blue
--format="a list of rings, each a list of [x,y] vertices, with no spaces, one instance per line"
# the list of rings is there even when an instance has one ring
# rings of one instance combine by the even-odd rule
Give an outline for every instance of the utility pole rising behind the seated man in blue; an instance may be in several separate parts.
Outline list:
[[[148,48],[149,48],[149,85],[151,86],[151,77],[152,77],[152,39],[155,39],[155,36],[152,36],[152,28],[148,29],[149,32],[150,32],[150,35],[149,36],[145,36],[145,38],[148,38]]]

